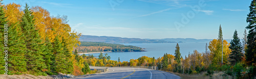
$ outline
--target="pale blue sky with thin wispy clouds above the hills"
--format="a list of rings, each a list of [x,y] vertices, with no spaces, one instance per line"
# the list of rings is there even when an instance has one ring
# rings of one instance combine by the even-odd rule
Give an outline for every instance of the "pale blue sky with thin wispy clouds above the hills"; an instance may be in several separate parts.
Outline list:
[[[4,0],[41,6],[52,16],[67,15],[83,35],[129,38],[232,39],[243,37],[250,0]],[[247,30],[248,32],[248,30]]]

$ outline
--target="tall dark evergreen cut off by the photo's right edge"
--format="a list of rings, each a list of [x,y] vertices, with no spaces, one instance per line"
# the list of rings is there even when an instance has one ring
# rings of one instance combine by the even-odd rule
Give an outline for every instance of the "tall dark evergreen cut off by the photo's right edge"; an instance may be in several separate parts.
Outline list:
[[[248,42],[247,42],[247,49],[246,49],[246,61],[248,65],[252,63],[256,63],[256,0],[251,1],[250,5],[250,12],[247,15],[246,22],[249,23],[246,29],[249,29],[248,33]]]

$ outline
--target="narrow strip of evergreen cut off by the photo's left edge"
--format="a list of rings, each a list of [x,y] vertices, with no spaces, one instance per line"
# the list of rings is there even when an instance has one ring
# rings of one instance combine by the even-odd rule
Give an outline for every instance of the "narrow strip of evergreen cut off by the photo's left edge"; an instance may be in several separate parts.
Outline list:
[[[5,53],[3,53],[4,51],[4,25],[7,24],[7,21],[6,21],[6,17],[5,17],[5,13],[3,11],[3,6],[0,7],[0,74],[4,74],[5,71],[5,60],[4,60],[4,57],[5,57]]]

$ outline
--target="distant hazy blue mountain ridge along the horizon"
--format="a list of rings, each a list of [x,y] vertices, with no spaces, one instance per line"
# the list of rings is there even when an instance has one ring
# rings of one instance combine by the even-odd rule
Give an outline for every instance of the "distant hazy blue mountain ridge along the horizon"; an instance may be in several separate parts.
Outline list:
[[[230,42],[230,39],[226,39]],[[141,39],[141,38],[126,38],[114,36],[95,36],[95,35],[82,35],[79,38],[81,42],[104,42],[112,44],[132,44],[132,43],[208,43],[212,39],[195,39],[195,38],[162,38],[162,39]]]

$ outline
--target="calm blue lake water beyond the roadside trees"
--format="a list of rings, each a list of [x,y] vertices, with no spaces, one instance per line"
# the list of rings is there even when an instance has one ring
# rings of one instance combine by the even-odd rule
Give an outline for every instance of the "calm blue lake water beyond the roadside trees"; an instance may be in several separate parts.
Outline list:
[[[193,53],[194,50],[202,53],[205,51],[206,43],[179,43],[181,56],[185,58],[185,55],[188,56],[188,52]],[[120,57],[120,61],[130,61],[130,59],[138,59],[141,56],[147,57],[162,57],[165,53],[174,55],[175,47],[177,43],[151,43],[151,44],[123,44],[123,45],[132,45],[141,48],[145,48],[147,52],[112,52],[108,53],[111,57],[111,60],[118,60]],[[105,54],[105,53],[103,53]],[[88,55],[88,54],[86,54]],[[91,54],[94,56],[98,56],[99,53]]]

